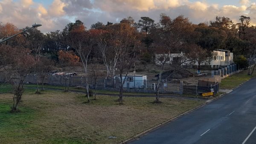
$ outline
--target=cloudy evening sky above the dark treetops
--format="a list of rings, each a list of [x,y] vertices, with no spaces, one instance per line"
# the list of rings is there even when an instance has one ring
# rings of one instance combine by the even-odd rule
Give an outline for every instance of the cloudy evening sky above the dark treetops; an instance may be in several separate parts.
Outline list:
[[[131,16],[150,17],[157,23],[161,13],[175,18],[188,17],[198,24],[225,16],[239,22],[239,16],[251,17],[256,24],[256,0],[0,0],[0,22],[18,28],[39,23],[44,33],[62,30],[67,23],[81,20],[87,28],[96,22],[119,23]]]

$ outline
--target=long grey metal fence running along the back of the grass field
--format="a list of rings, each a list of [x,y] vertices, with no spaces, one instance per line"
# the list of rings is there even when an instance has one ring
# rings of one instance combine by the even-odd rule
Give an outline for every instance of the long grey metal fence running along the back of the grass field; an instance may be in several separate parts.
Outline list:
[[[6,75],[0,75],[0,81],[7,81]],[[38,76],[38,83],[42,84],[43,78]],[[36,75],[28,75],[25,80],[26,84],[37,84]],[[90,89],[119,91],[120,81],[115,79],[99,78],[94,82],[93,78],[88,79]],[[86,86],[86,79],[82,76],[71,75],[47,75],[44,78],[44,85],[52,86]],[[198,81],[197,85],[183,85],[183,81],[162,82],[160,85],[160,93],[163,94],[186,94],[186,95],[202,95],[205,92],[211,92],[213,89],[214,95],[219,91],[219,84],[215,82]],[[142,92],[155,93],[157,90],[157,81],[151,80],[128,80],[123,84],[124,92]]]

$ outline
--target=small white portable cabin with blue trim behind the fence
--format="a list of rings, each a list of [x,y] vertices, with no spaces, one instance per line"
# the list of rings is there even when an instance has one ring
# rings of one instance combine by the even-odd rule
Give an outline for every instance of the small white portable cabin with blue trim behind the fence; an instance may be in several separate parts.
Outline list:
[[[119,80],[119,75],[114,76],[115,83]],[[147,75],[125,75],[122,76],[122,81],[125,81],[123,87],[131,88],[131,89],[143,89],[144,88],[144,80],[147,80]],[[145,81],[145,86],[147,86],[147,81]]]

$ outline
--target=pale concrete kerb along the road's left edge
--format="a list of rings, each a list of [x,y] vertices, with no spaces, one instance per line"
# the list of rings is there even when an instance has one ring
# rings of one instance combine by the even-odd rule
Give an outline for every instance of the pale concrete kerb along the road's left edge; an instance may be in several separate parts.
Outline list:
[[[252,78],[250,78],[250,79],[247,80],[247,81],[250,81],[251,79],[252,79]],[[234,87],[234,88],[231,89],[231,90],[234,90],[234,89],[238,88],[239,86],[243,85],[243,84],[246,83],[247,81],[244,81],[243,83],[239,84],[238,86]],[[176,118],[179,118],[179,117],[182,116],[182,115],[186,115],[187,113],[192,112],[192,111],[194,111],[195,109],[198,109],[198,108],[200,108],[200,107],[203,107],[205,104],[208,104],[208,103],[210,103],[210,102],[212,102],[212,101],[214,101],[214,100],[216,100],[216,99],[218,99],[218,98],[223,97],[225,94],[226,94],[226,92],[225,92],[224,94],[221,94],[221,95],[217,96],[216,98],[207,100],[207,101],[205,101],[204,104],[201,104],[201,105],[199,105],[199,106],[197,106],[197,107],[194,107],[193,109],[190,109],[190,110],[188,110],[188,111],[186,111],[186,112],[183,112],[182,114],[177,115],[177,116],[175,116],[174,118],[171,118],[171,119],[169,119],[168,121],[165,121],[165,122],[163,122],[163,123],[161,123],[161,124],[158,124],[157,126],[151,127],[151,128],[148,129],[148,130],[145,130],[145,131],[143,131],[143,132],[141,132],[141,133],[139,133],[139,134],[137,134],[137,135],[135,135],[135,136],[133,136],[133,137],[131,137],[131,138],[125,140],[125,141],[122,141],[120,144],[127,144],[128,142],[133,141],[133,140],[135,140],[136,138],[139,138],[140,136],[143,136],[143,135],[145,135],[145,134],[148,133],[148,132],[151,132],[151,131],[153,131],[153,130],[156,130],[156,129],[158,129],[158,128],[164,126],[165,124],[168,124],[169,122],[173,121],[173,120],[176,119]]]

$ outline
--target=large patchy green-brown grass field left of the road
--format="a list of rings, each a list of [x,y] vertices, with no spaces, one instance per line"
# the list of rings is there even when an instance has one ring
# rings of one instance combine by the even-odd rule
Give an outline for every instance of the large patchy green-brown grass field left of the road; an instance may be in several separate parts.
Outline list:
[[[20,113],[10,113],[12,94],[0,94],[0,143],[119,143],[144,130],[192,109],[204,101],[160,98],[99,96],[84,103],[77,93],[26,89]],[[111,139],[109,136],[116,136]]]

